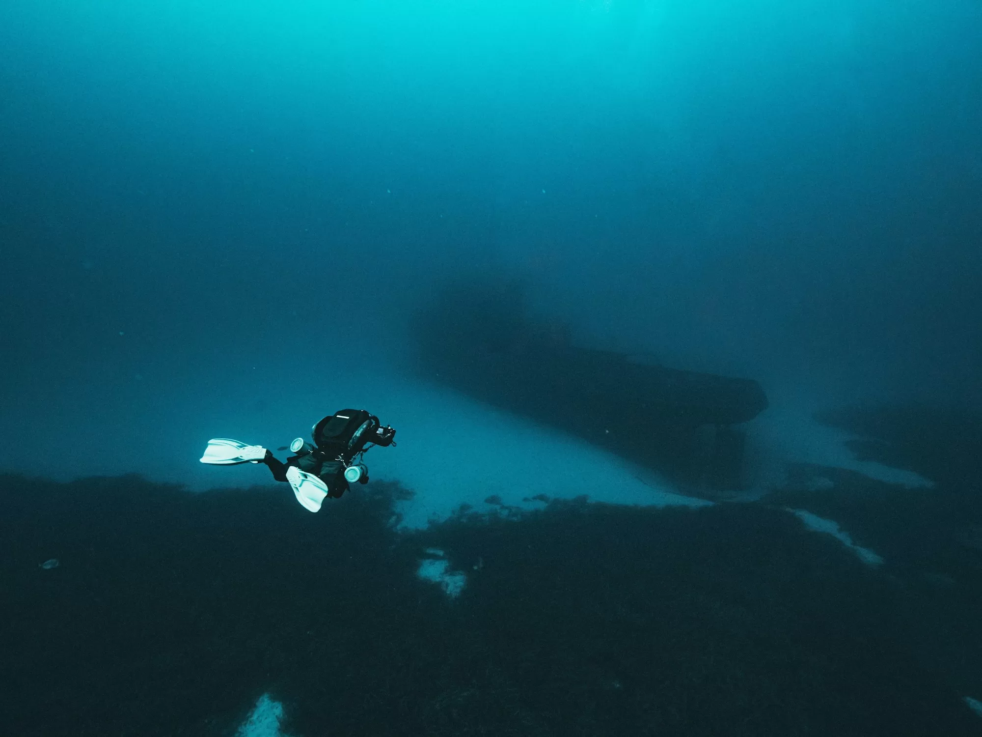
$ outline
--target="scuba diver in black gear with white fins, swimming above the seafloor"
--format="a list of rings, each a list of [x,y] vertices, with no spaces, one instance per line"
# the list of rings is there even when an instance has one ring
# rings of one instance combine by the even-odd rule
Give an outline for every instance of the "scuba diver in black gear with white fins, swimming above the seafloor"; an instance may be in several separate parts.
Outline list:
[[[368,467],[362,459],[371,446],[396,444],[396,430],[391,425],[383,427],[366,410],[339,410],[328,415],[313,426],[310,436],[313,444],[302,437],[290,443],[294,455],[286,463],[260,445],[216,437],[208,441],[201,463],[263,463],[276,481],[290,483],[305,509],[317,512],[324,497],[336,499],[350,488],[349,483],[368,482]]]

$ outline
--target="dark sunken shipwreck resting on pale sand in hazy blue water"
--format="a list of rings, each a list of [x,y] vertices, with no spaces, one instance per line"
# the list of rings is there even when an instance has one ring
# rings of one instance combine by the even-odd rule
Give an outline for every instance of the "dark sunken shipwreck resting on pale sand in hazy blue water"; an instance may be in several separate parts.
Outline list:
[[[735,425],[767,408],[754,380],[576,347],[563,326],[527,316],[518,287],[448,289],[414,328],[420,368],[435,380],[576,434],[690,491],[741,485],[743,435]]]

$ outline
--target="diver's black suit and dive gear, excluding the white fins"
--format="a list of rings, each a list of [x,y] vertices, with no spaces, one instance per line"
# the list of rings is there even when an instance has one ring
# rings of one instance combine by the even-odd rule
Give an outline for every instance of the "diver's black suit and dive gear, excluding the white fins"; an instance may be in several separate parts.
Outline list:
[[[365,450],[366,445],[392,445],[396,430],[382,427],[378,418],[365,410],[339,410],[314,425],[312,434],[316,447],[304,449],[288,458],[286,463],[266,451],[262,462],[278,482],[286,482],[287,470],[296,466],[300,471],[319,477],[327,484],[327,495],[338,498],[349,489],[345,469],[355,456]],[[368,477],[362,476],[358,482],[367,483]]]

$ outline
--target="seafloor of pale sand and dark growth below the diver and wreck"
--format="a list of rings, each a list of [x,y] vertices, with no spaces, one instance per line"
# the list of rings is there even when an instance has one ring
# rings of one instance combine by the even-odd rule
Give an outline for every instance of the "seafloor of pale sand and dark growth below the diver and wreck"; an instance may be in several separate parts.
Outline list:
[[[399,445],[317,515],[262,468],[157,471],[166,442],[130,456],[147,478],[3,477],[3,732],[980,733],[978,417],[819,422],[778,393],[754,482],[710,502],[436,385],[365,385],[332,393]],[[317,419],[222,409],[175,447]]]

